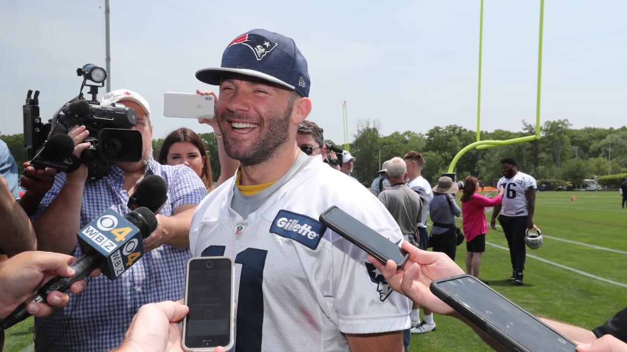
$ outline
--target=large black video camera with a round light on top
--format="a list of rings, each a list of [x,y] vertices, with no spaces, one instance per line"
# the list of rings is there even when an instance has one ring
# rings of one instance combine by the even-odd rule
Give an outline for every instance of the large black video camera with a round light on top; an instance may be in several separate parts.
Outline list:
[[[34,96],[31,96],[32,90],[28,91],[23,115],[24,146],[28,149],[29,159],[34,161],[37,158],[53,158],[50,153],[45,153],[45,142],[54,135],[67,134],[71,128],[85,125],[89,135],[83,142],[89,142],[90,147],[83,151],[80,159],[71,155],[65,160],[45,160],[43,164],[56,163],[58,167],[55,168],[58,171],[69,171],[78,168],[82,162],[87,165],[89,179],[102,179],[109,174],[114,162],[139,162],[143,150],[142,134],[129,129],[137,123],[135,110],[121,103],[100,106],[97,100],[98,87],[105,85],[107,71],[99,66],[87,64],[76,69],[76,75],[83,76],[79,95],[61,106],[48,123],[41,122],[39,91],[35,91]],[[87,81],[96,84],[88,84]],[[92,100],[83,97],[85,86],[90,87],[89,94],[92,95]],[[40,152],[36,153],[40,148]]]

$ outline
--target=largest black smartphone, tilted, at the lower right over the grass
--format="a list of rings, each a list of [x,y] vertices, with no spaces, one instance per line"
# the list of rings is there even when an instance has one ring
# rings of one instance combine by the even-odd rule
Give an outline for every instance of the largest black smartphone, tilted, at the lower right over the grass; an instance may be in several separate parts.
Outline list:
[[[510,351],[574,352],[577,345],[476,277],[431,282],[431,292]]]

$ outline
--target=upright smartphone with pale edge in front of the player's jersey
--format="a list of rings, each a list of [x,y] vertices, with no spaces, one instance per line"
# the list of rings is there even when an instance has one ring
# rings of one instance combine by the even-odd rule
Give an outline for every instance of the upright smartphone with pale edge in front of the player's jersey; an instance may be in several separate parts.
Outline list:
[[[187,261],[182,347],[213,351],[233,347],[233,259],[194,257]]]

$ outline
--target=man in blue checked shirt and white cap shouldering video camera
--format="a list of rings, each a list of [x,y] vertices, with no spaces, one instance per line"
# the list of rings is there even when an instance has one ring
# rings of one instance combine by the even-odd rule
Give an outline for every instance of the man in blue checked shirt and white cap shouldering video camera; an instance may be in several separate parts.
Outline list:
[[[207,191],[191,168],[161,165],[152,159],[150,108],[142,96],[130,90],[115,90],[102,99],[103,106],[113,103],[136,111],[137,124],[132,129],[141,133],[142,159],[113,163],[108,175],[100,179],[88,180],[84,164],[74,172],[58,173],[34,215],[39,248],[81,256],[76,232],[107,209],[127,214],[129,195],[144,176],[159,175],[166,180],[168,199],[157,215],[157,229],[144,239],[146,252],[141,259],[115,281],[105,277],[90,280],[87,290],[71,307],[35,319],[36,350],[115,348],[140,306],[180,299],[184,294],[189,225]],[[80,142],[77,139],[76,144]],[[75,150],[75,155],[79,152]]]

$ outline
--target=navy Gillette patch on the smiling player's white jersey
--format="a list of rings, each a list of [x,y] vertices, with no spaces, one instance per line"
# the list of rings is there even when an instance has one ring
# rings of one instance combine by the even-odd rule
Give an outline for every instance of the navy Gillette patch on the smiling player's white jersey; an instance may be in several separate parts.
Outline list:
[[[327,230],[318,220],[306,215],[280,210],[272,222],[270,232],[316,249]]]

